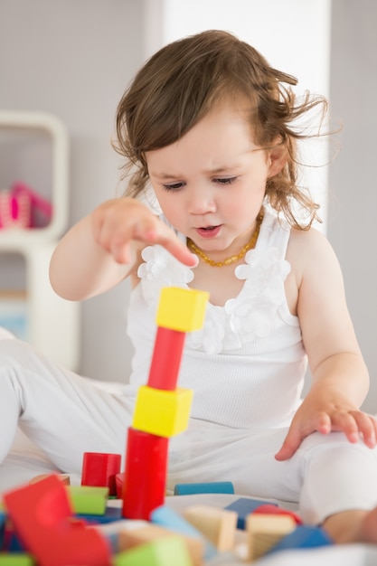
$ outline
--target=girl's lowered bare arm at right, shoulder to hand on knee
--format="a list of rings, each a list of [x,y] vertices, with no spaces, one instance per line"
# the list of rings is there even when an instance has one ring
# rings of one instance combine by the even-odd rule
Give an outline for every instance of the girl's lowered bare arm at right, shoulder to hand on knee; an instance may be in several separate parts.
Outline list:
[[[276,458],[290,458],[312,432],[342,430],[376,445],[377,425],[360,410],[369,387],[344,296],[344,282],[329,242],[318,231],[292,231],[287,259],[297,283],[297,316],[313,382]]]

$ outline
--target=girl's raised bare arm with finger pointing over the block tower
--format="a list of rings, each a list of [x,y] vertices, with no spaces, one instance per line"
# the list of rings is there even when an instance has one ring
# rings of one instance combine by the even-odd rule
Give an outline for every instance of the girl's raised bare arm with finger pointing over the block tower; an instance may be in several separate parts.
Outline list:
[[[186,265],[195,265],[184,243],[145,204],[125,197],[103,203],[75,224],[54,250],[52,288],[69,300],[99,295],[136,274],[140,251],[154,243]]]

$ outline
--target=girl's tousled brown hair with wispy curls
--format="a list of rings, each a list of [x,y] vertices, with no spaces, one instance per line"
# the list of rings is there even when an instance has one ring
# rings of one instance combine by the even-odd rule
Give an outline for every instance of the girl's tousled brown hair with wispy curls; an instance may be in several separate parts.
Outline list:
[[[147,151],[183,137],[219,100],[242,97],[250,101],[254,142],[286,150],[286,165],[266,185],[270,205],[292,226],[309,228],[319,220],[318,204],[297,185],[297,140],[322,135],[327,101],[308,92],[298,101],[291,88],[296,84],[231,33],[210,30],[166,45],[137,72],[118,104],[114,147],[127,157],[125,175],[132,172],[127,194],[136,197],[148,184]],[[308,133],[295,122],[314,108],[321,109],[320,124]],[[305,225],[297,220],[297,203]]]

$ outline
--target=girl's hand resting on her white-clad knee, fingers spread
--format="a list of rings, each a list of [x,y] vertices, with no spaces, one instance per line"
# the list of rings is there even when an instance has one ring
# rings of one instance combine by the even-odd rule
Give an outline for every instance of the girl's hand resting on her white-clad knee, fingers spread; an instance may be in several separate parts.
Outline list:
[[[369,448],[377,444],[377,421],[362,410],[353,407],[344,399],[336,402],[326,401],[320,403],[309,395],[292,420],[287,437],[282,447],[275,455],[277,460],[291,458],[301,442],[313,432],[329,434],[331,431],[343,431],[350,442],[363,442]]]

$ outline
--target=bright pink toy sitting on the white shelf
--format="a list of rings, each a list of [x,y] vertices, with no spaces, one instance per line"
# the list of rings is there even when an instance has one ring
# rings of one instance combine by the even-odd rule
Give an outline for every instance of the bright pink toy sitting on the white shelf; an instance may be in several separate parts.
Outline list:
[[[27,184],[0,192],[0,228],[43,228],[52,218],[52,203]]]

